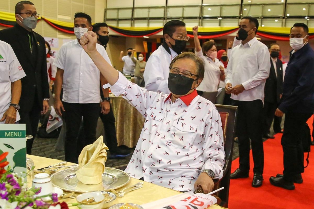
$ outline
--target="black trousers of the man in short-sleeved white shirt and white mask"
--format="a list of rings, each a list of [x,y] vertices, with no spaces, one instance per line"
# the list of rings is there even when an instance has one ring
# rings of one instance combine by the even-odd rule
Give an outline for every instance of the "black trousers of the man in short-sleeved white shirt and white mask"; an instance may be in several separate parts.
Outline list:
[[[92,144],[96,140],[97,120],[100,112],[100,103],[68,103],[62,102],[65,112],[63,119],[67,124],[64,143],[65,160],[78,162],[78,134],[82,118],[84,120],[85,145]]]

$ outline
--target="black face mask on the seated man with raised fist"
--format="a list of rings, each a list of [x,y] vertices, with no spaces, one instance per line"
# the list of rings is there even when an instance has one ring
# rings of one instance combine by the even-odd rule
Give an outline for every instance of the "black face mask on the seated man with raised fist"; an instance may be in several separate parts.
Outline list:
[[[186,95],[190,90],[192,90],[192,85],[194,81],[196,80],[181,76],[180,74],[177,75],[169,73],[168,88],[172,94]]]

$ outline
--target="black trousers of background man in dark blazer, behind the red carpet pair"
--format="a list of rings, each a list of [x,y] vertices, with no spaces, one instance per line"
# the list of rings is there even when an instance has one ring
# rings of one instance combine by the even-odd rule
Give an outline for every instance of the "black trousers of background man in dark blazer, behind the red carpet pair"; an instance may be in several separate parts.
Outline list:
[[[275,112],[277,109],[277,102],[264,102],[263,107],[263,135],[269,134],[270,126],[272,125]]]

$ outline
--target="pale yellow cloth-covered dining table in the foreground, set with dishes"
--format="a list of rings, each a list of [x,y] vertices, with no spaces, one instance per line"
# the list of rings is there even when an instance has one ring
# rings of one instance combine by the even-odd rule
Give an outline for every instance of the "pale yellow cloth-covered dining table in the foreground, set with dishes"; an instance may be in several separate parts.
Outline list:
[[[48,165],[61,162],[60,160],[50,159],[46,157],[38,157],[34,155],[27,155],[27,157],[31,158],[34,161],[36,168],[43,168]],[[73,163],[67,163],[66,165],[73,165]],[[125,187],[131,186],[138,182],[140,182],[140,180],[131,178],[131,180]],[[165,197],[170,197],[173,195],[180,194],[180,192],[175,191],[175,190],[171,190],[171,189],[158,186],[155,184],[151,184],[145,181],[143,182],[144,182],[143,188],[129,192],[126,195],[124,195],[124,197],[121,197],[121,198],[117,197],[116,200],[113,201],[113,204],[131,202],[131,203],[141,205],[141,204],[153,202],[156,200],[160,200]],[[28,182],[28,186],[31,186],[31,182]],[[59,199],[59,201],[61,202],[65,201],[67,203],[76,203],[76,199],[70,199],[70,198]],[[221,208],[223,207],[220,207],[218,205],[213,205],[209,207],[208,209],[221,209]]]

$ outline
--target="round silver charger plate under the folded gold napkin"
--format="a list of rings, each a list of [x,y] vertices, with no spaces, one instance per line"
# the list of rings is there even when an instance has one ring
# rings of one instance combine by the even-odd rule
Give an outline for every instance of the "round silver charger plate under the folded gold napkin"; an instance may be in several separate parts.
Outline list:
[[[76,177],[75,172],[77,170],[78,166],[53,173],[50,177],[52,185],[65,191],[85,193],[115,190],[130,181],[128,173],[116,168],[106,167],[105,172],[102,174],[102,183],[96,185],[83,184]]]

